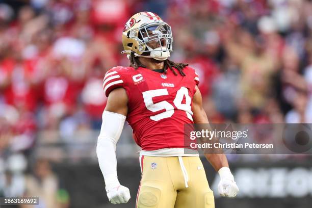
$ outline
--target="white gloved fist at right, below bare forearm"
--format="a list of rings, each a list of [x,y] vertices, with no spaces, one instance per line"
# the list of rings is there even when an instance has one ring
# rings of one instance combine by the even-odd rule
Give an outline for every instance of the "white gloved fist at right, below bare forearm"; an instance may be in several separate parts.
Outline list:
[[[235,197],[239,192],[239,188],[234,181],[234,177],[228,167],[222,167],[218,171],[220,175],[220,183],[218,191],[221,196]]]

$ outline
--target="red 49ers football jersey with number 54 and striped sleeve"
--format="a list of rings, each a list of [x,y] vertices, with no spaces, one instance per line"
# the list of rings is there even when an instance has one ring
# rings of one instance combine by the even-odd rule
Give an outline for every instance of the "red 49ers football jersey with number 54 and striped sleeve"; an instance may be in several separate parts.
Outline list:
[[[185,67],[186,76],[139,67],[114,67],[105,77],[105,95],[118,87],[128,96],[127,122],[143,150],[185,148],[184,125],[193,123],[192,100],[199,84],[198,75]]]

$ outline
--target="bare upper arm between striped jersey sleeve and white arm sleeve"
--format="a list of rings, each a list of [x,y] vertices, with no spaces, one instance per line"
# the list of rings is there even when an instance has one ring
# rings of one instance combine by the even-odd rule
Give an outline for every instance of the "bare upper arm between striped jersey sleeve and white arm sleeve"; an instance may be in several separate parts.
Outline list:
[[[110,92],[105,110],[127,116],[128,96],[124,88],[116,88]]]

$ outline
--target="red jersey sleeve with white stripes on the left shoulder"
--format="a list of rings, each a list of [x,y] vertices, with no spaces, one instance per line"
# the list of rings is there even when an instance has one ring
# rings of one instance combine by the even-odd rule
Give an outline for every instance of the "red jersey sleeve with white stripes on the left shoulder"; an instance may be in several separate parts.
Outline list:
[[[125,88],[126,76],[125,70],[122,67],[114,67],[106,72],[103,79],[103,90],[108,97],[110,92],[118,87]]]

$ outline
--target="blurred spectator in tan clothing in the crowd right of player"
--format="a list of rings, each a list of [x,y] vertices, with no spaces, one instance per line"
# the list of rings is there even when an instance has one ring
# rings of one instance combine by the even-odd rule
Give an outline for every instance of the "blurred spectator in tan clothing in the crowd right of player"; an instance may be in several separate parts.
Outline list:
[[[271,86],[273,59],[265,53],[262,42],[254,39],[248,32],[239,30],[232,35],[237,41],[229,40],[226,49],[230,58],[241,67],[242,96],[252,108],[261,109]]]

